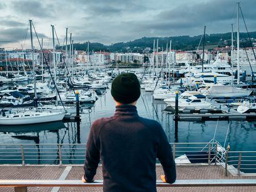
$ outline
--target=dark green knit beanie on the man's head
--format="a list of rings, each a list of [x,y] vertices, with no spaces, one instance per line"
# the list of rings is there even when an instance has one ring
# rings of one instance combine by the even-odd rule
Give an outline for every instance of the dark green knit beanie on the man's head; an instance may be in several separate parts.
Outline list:
[[[114,78],[111,94],[117,102],[130,104],[140,97],[140,82],[134,73],[122,73]]]

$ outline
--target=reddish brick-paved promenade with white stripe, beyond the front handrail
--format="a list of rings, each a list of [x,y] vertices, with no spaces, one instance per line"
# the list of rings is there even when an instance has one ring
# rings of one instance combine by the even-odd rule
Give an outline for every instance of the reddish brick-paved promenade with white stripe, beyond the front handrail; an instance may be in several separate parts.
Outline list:
[[[81,166],[0,166],[0,179],[33,179],[33,180],[79,180],[83,174],[83,167]],[[156,167],[157,179],[163,174],[161,166]],[[221,179],[221,178],[256,178],[253,176],[233,176],[230,173],[225,177],[223,167],[220,165],[178,165],[177,179]],[[95,176],[95,180],[102,180],[101,167]],[[14,191],[14,188],[0,188],[0,191]],[[100,187],[66,187],[66,188],[52,188],[52,187],[30,187],[28,191],[102,191]],[[165,187],[158,188],[158,191],[207,191],[207,192],[226,192],[226,191],[256,191],[256,186],[236,186],[236,187]]]

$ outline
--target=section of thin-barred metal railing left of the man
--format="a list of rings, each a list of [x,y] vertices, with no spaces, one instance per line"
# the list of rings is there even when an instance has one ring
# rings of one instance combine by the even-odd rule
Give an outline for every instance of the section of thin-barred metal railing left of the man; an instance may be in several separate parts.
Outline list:
[[[82,164],[86,144],[0,144],[0,164]]]

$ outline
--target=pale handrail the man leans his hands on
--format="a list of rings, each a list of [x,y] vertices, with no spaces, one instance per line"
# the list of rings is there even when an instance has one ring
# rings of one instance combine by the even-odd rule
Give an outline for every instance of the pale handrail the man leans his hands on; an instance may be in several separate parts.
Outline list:
[[[93,183],[82,183],[80,180],[0,180],[0,187],[27,186],[103,186],[103,180],[95,180]],[[256,186],[256,179],[176,180],[173,184],[156,180],[156,186]]]

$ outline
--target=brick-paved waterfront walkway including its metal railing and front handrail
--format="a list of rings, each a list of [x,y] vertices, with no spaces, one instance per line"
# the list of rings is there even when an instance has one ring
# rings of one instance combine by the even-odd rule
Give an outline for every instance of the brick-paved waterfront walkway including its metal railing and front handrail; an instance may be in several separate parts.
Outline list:
[[[160,164],[156,164],[158,191],[256,189],[255,168],[247,168],[248,164],[256,166],[256,151],[229,151],[228,155],[225,155],[223,153],[226,151],[221,151],[217,142],[170,144],[176,157],[177,181],[174,184],[161,182],[159,179],[160,175],[163,175],[163,169]],[[37,191],[38,187],[40,191],[102,191],[101,165],[97,169],[95,182],[80,181],[83,172],[83,164],[80,162],[84,158],[84,151],[81,149],[85,149],[85,144],[1,145],[1,161],[4,161],[4,157],[12,156],[12,159],[7,160],[8,164],[0,166],[0,191]],[[70,150],[73,151],[72,158],[67,159]],[[10,151],[12,154],[5,154]],[[207,152],[210,152],[210,155]],[[55,164],[45,164],[47,161]]]

